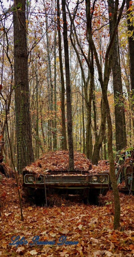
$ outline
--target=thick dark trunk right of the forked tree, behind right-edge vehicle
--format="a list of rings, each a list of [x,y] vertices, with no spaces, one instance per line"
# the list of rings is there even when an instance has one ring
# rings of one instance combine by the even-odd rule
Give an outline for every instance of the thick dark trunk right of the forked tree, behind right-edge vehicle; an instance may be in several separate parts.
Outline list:
[[[109,13],[114,14],[114,0],[108,1]],[[110,38],[112,36],[113,24],[112,16],[109,16],[109,32]],[[124,134],[124,108],[120,105],[120,100],[122,97],[122,80],[120,74],[120,65],[118,57],[118,45],[117,45],[117,35],[114,42],[114,54],[112,59],[112,77],[113,77],[113,89],[114,89],[114,101],[115,101],[115,132],[116,132],[116,151],[120,151],[126,147],[126,139]],[[117,102],[117,99],[119,101]],[[122,102],[122,101],[121,101]],[[122,102],[123,104],[123,102]]]

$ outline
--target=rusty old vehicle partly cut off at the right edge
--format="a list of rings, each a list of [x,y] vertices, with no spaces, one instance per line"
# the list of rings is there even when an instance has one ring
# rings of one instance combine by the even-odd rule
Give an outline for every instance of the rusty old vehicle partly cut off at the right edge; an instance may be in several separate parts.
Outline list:
[[[134,150],[130,148],[117,159],[117,183],[122,184],[120,190],[134,194]]]

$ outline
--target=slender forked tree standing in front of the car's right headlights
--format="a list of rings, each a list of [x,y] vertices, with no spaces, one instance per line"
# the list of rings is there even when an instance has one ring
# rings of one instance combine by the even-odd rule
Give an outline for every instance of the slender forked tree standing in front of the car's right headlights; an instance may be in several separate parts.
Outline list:
[[[118,15],[118,6],[119,1],[115,1],[115,9],[114,9],[114,19],[113,19],[113,32],[112,36],[109,42],[109,45],[107,46],[106,54],[105,54],[105,67],[104,67],[104,74],[102,75],[102,69],[100,66],[100,61],[98,58],[98,53],[94,44],[94,41],[92,39],[92,33],[91,29],[88,30],[88,38],[89,42],[92,46],[92,49],[94,51],[94,56],[96,60],[96,65],[98,69],[98,75],[99,75],[99,82],[103,94],[103,99],[106,106],[106,115],[107,115],[107,124],[108,124],[108,156],[109,156],[109,164],[110,164],[110,177],[112,181],[112,189],[114,194],[114,205],[115,205],[115,215],[114,215],[114,229],[119,228],[120,226],[120,200],[119,200],[119,192],[117,187],[117,180],[115,175],[115,166],[114,166],[114,155],[112,151],[112,122],[111,122],[111,115],[110,115],[110,108],[109,108],[109,102],[107,97],[107,88],[108,88],[108,82],[109,77],[111,73],[111,67],[112,67],[112,56],[114,52],[114,40],[118,28],[118,24],[120,22],[123,8],[125,5],[125,0],[122,1],[119,15]],[[110,12],[110,10],[109,10]],[[87,17],[90,17],[90,0],[87,0]],[[118,15],[118,18],[117,18]]]

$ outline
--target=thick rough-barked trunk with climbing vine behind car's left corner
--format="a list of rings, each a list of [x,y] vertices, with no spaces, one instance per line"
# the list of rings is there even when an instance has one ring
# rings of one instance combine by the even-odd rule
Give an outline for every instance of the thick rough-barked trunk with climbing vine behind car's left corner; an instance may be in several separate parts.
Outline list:
[[[19,7],[17,7],[19,3]],[[20,8],[21,11],[18,9]],[[26,43],[26,2],[14,1],[14,84],[17,137],[17,169],[21,172],[33,162],[31,121],[29,111],[28,53]]]

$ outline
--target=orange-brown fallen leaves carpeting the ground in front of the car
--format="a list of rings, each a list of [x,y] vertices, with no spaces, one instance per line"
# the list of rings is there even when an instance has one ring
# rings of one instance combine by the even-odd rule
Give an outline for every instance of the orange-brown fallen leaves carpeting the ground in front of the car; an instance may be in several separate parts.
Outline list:
[[[21,190],[20,190],[21,191]],[[22,198],[22,191],[21,191]],[[24,221],[15,179],[3,178],[0,184],[0,256],[1,257],[132,257],[134,256],[134,197],[120,193],[120,230],[113,230],[112,191],[101,196],[100,207],[83,203],[46,208],[30,206],[22,198]],[[3,207],[2,207],[3,205]],[[27,244],[9,245],[12,236],[25,237]],[[54,245],[29,245],[38,235]],[[57,245],[61,235],[77,245]]]

